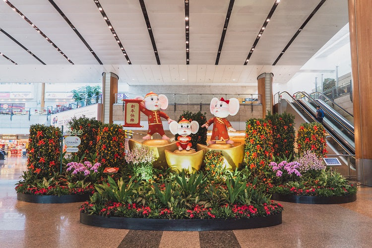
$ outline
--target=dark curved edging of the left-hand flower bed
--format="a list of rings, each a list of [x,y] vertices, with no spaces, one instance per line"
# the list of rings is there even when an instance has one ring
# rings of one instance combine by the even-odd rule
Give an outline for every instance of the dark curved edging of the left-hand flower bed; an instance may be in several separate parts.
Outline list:
[[[89,200],[89,193],[65,195],[37,195],[17,193],[17,200],[33,203],[70,203]]]

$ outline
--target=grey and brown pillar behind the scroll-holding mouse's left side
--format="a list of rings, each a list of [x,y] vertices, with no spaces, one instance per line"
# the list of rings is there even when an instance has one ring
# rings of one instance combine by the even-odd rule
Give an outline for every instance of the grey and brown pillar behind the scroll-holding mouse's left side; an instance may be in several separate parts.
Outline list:
[[[113,105],[118,93],[119,76],[113,72],[102,73],[102,110],[103,123],[113,123]]]

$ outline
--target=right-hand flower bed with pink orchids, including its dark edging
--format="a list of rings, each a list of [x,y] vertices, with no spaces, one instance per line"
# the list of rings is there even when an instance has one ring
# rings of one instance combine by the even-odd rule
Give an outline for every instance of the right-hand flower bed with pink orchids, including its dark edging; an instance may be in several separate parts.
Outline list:
[[[271,162],[264,187],[272,199],[308,204],[338,204],[356,200],[357,187],[322,159],[306,151],[296,161]]]

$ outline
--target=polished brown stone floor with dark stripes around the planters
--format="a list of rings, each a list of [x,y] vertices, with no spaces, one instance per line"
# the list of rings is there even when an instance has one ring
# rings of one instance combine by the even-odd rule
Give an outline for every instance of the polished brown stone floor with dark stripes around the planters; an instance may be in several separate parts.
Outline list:
[[[281,202],[283,224],[213,232],[133,231],[79,223],[80,203],[17,201],[14,184],[25,157],[0,161],[0,248],[253,248],[372,247],[372,188],[355,202],[306,205]]]

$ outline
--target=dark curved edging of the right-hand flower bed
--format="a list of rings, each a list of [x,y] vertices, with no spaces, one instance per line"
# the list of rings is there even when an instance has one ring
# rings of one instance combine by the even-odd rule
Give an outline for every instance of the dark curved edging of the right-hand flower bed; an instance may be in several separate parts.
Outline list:
[[[357,200],[357,194],[340,195],[340,196],[312,196],[312,195],[295,195],[273,193],[272,200],[286,201],[303,204],[341,204]]]

